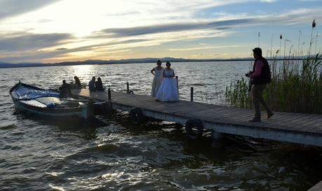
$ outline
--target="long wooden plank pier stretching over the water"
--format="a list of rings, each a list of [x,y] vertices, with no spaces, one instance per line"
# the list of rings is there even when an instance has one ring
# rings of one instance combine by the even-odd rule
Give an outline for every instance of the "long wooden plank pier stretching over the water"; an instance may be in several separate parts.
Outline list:
[[[80,97],[108,100],[108,92],[90,92],[87,89],[73,90]],[[275,112],[270,119],[266,113],[262,122],[248,122],[253,110],[228,106],[216,106],[192,101],[172,103],[155,101],[155,98],[141,94],[127,94],[111,91],[112,107],[123,111],[141,108],[150,118],[186,124],[187,120],[202,120],[204,129],[215,133],[236,134],[253,138],[302,143],[322,146],[322,115]]]

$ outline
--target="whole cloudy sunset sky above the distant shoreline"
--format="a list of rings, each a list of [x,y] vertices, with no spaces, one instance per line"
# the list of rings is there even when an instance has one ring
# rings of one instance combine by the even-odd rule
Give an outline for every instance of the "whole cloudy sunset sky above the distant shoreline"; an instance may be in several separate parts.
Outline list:
[[[265,57],[322,52],[322,0],[0,0],[0,7],[0,62],[229,59],[251,57],[258,46]]]

